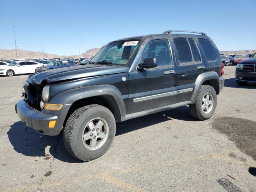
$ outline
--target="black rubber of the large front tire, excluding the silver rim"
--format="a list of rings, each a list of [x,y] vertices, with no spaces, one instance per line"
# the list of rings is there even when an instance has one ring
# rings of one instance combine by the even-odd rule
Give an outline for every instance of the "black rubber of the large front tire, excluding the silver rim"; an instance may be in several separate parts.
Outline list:
[[[84,128],[94,118],[103,118],[108,124],[108,136],[100,148],[90,150],[82,139]],[[116,121],[108,108],[100,105],[88,105],[75,110],[66,122],[63,140],[68,152],[82,161],[94,160],[110,148],[116,135]]]

